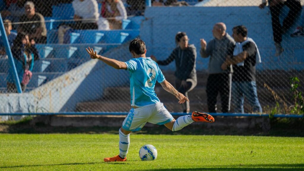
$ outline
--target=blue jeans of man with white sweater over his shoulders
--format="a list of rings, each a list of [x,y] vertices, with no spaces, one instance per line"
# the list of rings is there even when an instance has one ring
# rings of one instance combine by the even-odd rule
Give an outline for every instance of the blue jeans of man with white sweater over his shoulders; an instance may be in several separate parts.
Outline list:
[[[257,98],[257,85],[251,82],[232,82],[232,104],[235,113],[244,113],[244,97],[253,108],[253,112],[262,113],[262,107]]]

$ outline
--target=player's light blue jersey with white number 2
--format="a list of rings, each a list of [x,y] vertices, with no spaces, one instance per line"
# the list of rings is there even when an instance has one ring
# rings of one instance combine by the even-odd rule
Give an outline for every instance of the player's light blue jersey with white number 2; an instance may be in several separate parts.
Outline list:
[[[161,69],[151,58],[133,58],[125,62],[130,72],[131,106],[147,106],[159,102],[154,87],[165,80]]]

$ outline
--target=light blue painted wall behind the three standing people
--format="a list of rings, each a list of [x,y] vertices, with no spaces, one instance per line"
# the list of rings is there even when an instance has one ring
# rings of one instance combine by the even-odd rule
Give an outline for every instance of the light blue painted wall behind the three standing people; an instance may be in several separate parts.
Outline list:
[[[284,8],[287,15],[288,9]],[[283,36],[282,46],[285,52],[275,57],[271,15],[268,8],[258,7],[148,7],[145,12],[146,21],[140,29],[140,36],[146,42],[147,55],[155,55],[157,59],[167,58],[175,46],[175,34],[184,31],[190,38],[190,44],[197,48],[197,70],[208,68],[209,58],[203,59],[199,55],[200,38],[207,42],[212,40],[212,28],[215,23],[223,22],[227,26],[227,33],[232,35],[233,26],[245,25],[248,37],[256,42],[262,58],[259,70],[292,70],[304,69],[304,37],[291,38],[290,33],[299,24],[296,24]],[[175,70],[174,64],[170,67],[161,66],[163,70]]]

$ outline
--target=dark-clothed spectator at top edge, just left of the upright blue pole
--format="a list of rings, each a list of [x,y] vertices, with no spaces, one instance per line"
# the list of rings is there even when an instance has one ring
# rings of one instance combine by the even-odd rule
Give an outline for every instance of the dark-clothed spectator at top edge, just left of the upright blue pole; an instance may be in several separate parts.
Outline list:
[[[128,7],[126,8],[128,16],[136,15],[143,16],[146,8],[145,0],[127,0]]]

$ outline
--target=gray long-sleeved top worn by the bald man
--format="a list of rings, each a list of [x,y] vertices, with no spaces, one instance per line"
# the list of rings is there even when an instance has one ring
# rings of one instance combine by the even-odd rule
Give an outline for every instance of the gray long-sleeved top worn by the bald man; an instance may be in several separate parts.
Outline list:
[[[221,66],[226,61],[228,55],[231,57],[233,56],[234,46],[235,41],[228,33],[226,33],[221,40],[216,38],[212,39],[207,44],[206,50],[201,48],[200,54],[202,58],[208,58],[210,56],[208,67],[209,74],[220,74],[227,72],[222,70]]]

